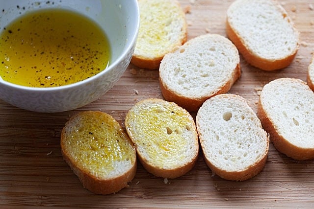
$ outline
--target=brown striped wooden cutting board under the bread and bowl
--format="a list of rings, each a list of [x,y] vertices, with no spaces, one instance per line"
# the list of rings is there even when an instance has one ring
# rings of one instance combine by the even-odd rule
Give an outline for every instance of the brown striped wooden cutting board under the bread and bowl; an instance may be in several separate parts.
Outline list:
[[[186,11],[188,39],[205,33],[226,35],[226,10],[232,0],[180,2]],[[269,81],[280,77],[306,81],[314,51],[314,1],[280,3],[300,31],[301,46],[293,63],[275,72],[253,68],[241,57],[242,75],[230,93],[243,96],[254,111],[260,90]],[[294,161],[278,153],[273,144],[262,172],[245,182],[219,178],[200,155],[190,172],[168,182],[154,177],[138,163],[130,186],[116,194],[95,195],[84,189],[60,153],[60,131],[69,116],[84,110],[100,110],[124,127],[132,105],[150,97],[162,98],[158,71],[130,65],[112,90],[74,111],[33,113],[0,101],[0,207],[314,208],[314,161]]]

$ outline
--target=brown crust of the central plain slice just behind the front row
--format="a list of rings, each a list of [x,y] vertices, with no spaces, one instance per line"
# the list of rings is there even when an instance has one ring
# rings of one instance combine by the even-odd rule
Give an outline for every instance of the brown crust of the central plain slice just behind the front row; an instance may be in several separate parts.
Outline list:
[[[171,91],[167,87],[167,85],[163,82],[162,78],[160,78],[160,76],[159,76],[159,84],[160,84],[159,86],[160,86],[160,90],[161,90],[163,97],[167,101],[175,102],[179,106],[183,107],[184,109],[186,109],[189,112],[195,112],[210,97],[215,96],[217,94],[221,94],[221,93],[227,93],[231,89],[231,87],[233,86],[235,81],[241,76],[241,68],[240,68],[239,63],[236,65],[235,70],[233,70],[233,71],[234,71],[234,74],[231,76],[230,80],[228,80],[223,86],[221,86],[215,93],[213,93],[211,95],[206,95],[206,96],[203,96],[200,98],[186,97],[182,94],[178,94],[178,93]]]

